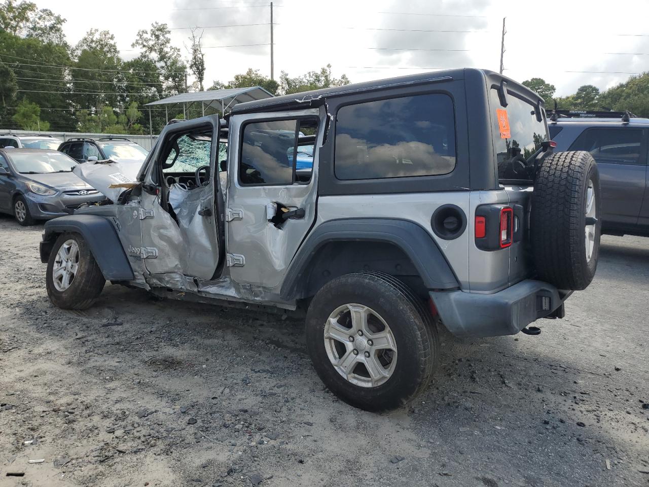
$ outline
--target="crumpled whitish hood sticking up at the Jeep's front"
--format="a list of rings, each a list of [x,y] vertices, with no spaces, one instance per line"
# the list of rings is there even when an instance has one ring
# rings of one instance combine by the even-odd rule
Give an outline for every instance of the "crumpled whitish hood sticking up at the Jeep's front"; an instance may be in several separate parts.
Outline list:
[[[123,191],[137,184],[140,168],[139,162],[115,162],[108,159],[81,162],[72,172],[115,203]]]

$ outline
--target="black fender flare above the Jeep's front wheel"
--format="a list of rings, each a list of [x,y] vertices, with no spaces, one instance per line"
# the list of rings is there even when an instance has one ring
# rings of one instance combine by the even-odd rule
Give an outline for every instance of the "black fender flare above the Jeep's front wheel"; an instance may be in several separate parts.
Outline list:
[[[112,222],[99,215],[60,216],[45,222],[40,243],[41,262],[47,262],[56,238],[62,233],[80,234],[95,257],[106,281],[132,281],[133,269]]]

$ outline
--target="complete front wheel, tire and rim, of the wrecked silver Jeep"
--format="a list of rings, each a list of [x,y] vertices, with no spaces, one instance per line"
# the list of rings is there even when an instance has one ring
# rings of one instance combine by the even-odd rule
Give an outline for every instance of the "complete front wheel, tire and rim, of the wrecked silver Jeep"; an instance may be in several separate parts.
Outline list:
[[[66,233],[56,239],[47,262],[47,295],[57,308],[90,308],[106,284],[86,240]]]

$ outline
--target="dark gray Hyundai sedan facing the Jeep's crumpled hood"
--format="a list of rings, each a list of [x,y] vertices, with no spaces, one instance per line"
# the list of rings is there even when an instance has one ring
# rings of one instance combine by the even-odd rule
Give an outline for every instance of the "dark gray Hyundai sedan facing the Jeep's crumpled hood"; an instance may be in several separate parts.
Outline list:
[[[33,225],[106,199],[72,173],[75,164],[55,150],[0,149],[0,212]]]

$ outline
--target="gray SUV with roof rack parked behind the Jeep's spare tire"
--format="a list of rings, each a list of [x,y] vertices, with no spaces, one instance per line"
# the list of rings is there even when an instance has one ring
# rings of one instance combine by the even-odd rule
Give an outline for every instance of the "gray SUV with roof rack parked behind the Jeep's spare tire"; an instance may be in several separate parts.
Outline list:
[[[602,232],[649,236],[649,119],[624,112],[552,114],[561,151],[587,151],[600,170]]]

